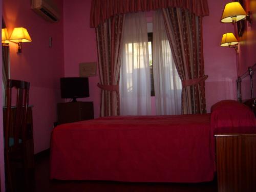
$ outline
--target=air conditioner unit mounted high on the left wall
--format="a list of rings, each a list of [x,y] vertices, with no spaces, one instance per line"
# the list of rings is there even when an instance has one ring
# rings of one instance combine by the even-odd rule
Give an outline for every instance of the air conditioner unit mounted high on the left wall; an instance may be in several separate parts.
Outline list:
[[[31,9],[49,22],[58,22],[59,11],[53,0],[31,0]]]

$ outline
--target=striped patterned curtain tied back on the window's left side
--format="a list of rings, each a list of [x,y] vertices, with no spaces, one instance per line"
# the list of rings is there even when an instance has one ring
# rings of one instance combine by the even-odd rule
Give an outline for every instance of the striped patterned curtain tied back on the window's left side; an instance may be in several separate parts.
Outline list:
[[[100,116],[120,115],[120,44],[124,15],[111,16],[96,28],[98,67],[101,89]]]

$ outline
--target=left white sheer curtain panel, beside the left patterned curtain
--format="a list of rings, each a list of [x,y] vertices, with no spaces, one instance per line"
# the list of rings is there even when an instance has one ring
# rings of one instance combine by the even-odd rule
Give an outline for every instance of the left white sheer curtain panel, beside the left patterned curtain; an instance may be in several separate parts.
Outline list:
[[[144,12],[125,15],[121,51],[120,114],[150,115],[150,66]]]

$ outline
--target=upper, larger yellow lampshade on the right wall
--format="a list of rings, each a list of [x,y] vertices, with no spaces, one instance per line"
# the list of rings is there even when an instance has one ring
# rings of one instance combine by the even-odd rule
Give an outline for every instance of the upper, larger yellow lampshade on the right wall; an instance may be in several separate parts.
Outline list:
[[[222,13],[222,23],[236,23],[246,17],[246,12],[239,2],[226,4]]]

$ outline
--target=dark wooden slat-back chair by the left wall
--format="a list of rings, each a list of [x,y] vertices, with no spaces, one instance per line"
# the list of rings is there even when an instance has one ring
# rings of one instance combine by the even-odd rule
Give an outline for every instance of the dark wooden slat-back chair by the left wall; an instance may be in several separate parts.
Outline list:
[[[26,137],[27,118],[29,104],[30,83],[20,80],[8,79],[7,81],[7,112],[4,127],[5,136],[5,165],[6,165],[6,185],[8,191],[14,191],[13,174],[10,163],[13,158],[22,162],[26,166]],[[14,91],[15,90],[15,91]],[[15,93],[15,96],[13,95]],[[16,101],[15,101],[16,100]],[[15,105],[15,113],[12,111],[12,103]]]

